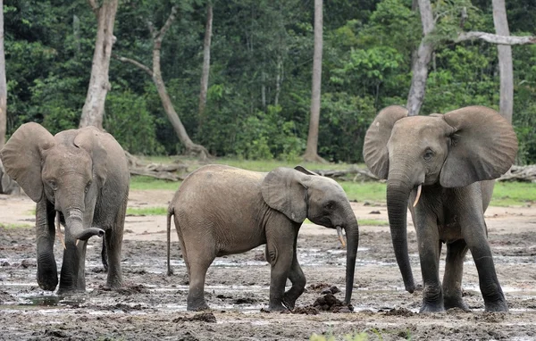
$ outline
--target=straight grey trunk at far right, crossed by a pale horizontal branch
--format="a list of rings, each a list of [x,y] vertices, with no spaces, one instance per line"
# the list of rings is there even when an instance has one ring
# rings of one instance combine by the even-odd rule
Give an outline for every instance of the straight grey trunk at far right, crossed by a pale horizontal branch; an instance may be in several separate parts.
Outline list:
[[[499,36],[510,36],[508,29],[507,8],[505,0],[493,0],[493,23]],[[500,114],[512,123],[514,112],[514,67],[512,66],[512,47],[498,45],[498,70],[500,75]]]

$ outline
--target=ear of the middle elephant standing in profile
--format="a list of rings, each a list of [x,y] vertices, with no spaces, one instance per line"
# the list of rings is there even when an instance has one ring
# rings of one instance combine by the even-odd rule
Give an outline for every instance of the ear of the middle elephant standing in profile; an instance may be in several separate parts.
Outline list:
[[[303,222],[307,218],[306,178],[298,170],[282,167],[272,170],[261,185],[264,202],[290,220]]]

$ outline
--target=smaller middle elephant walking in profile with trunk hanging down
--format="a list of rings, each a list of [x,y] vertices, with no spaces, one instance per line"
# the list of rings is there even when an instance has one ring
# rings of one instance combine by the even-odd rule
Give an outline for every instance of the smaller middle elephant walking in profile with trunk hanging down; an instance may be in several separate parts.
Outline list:
[[[306,287],[297,262],[297,233],[308,218],[316,224],[346,229],[347,270],[345,302],[354,284],[359,242],[357,220],[339,184],[309,172],[278,168],[269,173],[207,165],[184,180],[168,212],[168,274],[171,217],[189,276],[188,310],[208,308],[205,274],[215,257],[244,253],[266,245],[272,265],[270,310],[293,309]],[[290,279],[292,287],[285,292]]]

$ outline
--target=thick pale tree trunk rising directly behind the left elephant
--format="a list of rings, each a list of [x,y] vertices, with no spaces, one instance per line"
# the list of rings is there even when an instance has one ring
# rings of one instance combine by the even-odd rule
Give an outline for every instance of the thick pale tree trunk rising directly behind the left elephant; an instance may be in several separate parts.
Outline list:
[[[88,96],[86,96],[86,103],[82,108],[79,127],[95,126],[98,129],[103,129],[105,100],[110,89],[108,70],[115,39],[113,37],[113,22],[115,21],[119,0],[105,0],[100,7],[95,0],[88,0],[88,2],[96,14],[96,43]]]

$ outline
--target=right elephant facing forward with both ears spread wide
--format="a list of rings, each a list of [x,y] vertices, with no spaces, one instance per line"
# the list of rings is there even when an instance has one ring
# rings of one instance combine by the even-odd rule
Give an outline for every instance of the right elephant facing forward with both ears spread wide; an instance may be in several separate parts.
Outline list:
[[[461,287],[467,249],[478,270],[486,312],[507,312],[484,221],[494,182],[484,180],[505,173],[516,152],[512,126],[483,106],[410,117],[405,108],[389,106],[367,130],[364,162],[376,176],[387,179],[392,243],[410,293],[415,284],[407,254],[408,204],[413,217],[423,273],[421,312],[468,310]],[[443,243],[447,259],[441,287]]]

